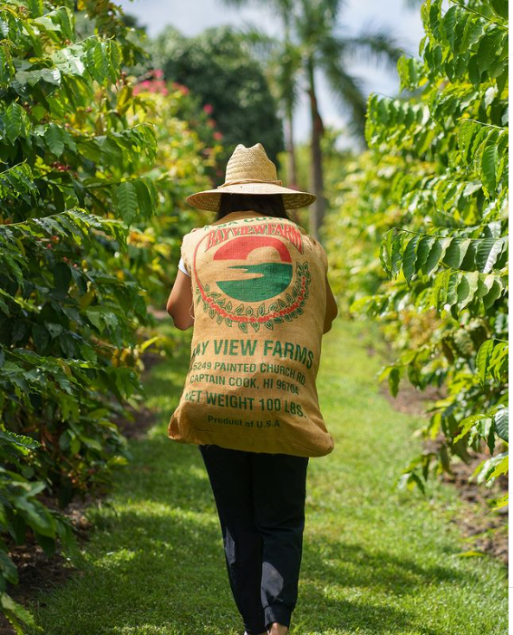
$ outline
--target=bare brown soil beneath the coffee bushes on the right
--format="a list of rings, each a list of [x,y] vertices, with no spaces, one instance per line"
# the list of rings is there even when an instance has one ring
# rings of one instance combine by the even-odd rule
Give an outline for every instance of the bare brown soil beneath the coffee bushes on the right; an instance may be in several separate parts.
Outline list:
[[[373,351],[370,351],[373,354]],[[431,401],[443,399],[443,393],[436,387],[428,387],[427,390],[417,390],[407,381],[402,381],[397,397],[392,397],[386,382],[380,386],[382,395],[392,406],[406,414],[422,417],[426,416],[426,409]],[[436,446],[440,439],[431,441]],[[430,443],[425,443],[425,449],[434,449]],[[444,482],[457,487],[460,497],[468,505],[464,506],[464,512],[450,523],[458,525],[461,534],[468,544],[469,555],[488,554],[498,558],[501,563],[508,564],[508,506],[497,511],[491,511],[492,501],[508,493],[508,477],[499,476],[493,486],[485,487],[475,482],[469,482],[469,477],[479,463],[489,455],[469,452],[470,462],[452,463],[452,474],[444,473]]]

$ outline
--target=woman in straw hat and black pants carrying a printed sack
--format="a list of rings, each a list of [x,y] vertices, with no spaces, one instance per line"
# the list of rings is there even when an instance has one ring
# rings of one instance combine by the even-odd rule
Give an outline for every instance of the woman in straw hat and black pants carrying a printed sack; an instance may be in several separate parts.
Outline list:
[[[218,508],[230,587],[247,635],[284,635],[297,601],[309,457],[334,448],[315,378],[337,307],[324,247],[286,210],[260,143],[239,144],[225,183],[187,201],[217,212],[181,245],[167,311],[194,325],[168,436],[198,445]]]

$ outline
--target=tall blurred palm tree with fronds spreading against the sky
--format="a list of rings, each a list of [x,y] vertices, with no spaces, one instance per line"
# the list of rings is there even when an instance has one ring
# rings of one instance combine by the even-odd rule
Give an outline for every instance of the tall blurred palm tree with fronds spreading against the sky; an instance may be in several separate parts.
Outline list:
[[[341,107],[351,115],[350,130],[363,139],[366,97],[362,82],[354,77],[349,68],[358,57],[366,61],[373,60],[395,66],[402,54],[393,38],[379,30],[365,30],[362,34],[349,34],[342,25],[341,16],[345,7],[344,0],[224,0],[227,5],[248,5],[250,3],[266,5],[278,12],[283,24],[284,41],[288,50],[294,47],[301,59],[301,70],[305,82],[305,91],[309,97],[312,120],[311,131],[311,187],[317,200],[310,208],[310,232],[319,238],[326,209],[324,197],[324,172],[321,140],[324,124],[317,100],[317,80],[319,73],[324,74],[334,96]],[[286,59],[284,60],[285,66]],[[285,72],[284,72],[285,74]],[[286,95],[291,87],[298,85],[298,73],[288,72],[290,85],[283,87]],[[286,101],[287,128],[292,127],[295,101]],[[286,105],[287,108],[287,105]],[[287,137],[290,142],[289,132]]]

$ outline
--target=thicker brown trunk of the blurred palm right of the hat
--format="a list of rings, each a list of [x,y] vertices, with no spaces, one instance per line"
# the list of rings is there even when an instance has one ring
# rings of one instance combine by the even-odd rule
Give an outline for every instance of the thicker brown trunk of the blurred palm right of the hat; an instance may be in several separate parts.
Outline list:
[[[314,63],[310,60],[308,63],[308,79],[310,83],[308,95],[310,97],[310,112],[312,115],[310,178],[314,194],[317,197],[315,203],[312,207],[310,207],[310,233],[316,240],[319,240],[319,230],[323,225],[324,213],[326,210],[326,200],[324,198],[323,153],[321,150],[321,140],[324,134],[324,126],[317,107],[314,74]]]

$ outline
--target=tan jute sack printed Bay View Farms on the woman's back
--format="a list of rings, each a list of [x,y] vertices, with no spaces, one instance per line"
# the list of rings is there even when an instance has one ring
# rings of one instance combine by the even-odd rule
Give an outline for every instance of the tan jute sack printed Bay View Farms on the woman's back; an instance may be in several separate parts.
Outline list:
[[[315,378],[326,307],[324,247],[294,222],[232,212],[184,236],[194,332],[168,436],[252,452],[334,448]]]

